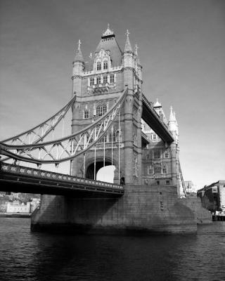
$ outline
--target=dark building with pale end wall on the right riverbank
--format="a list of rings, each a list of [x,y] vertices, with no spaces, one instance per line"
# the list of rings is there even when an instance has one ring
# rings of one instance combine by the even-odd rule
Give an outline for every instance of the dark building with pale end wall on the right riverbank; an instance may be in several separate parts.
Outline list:
[[[210,211],[225,211],[225,181],[217,181],[197,191],[204,208]]]

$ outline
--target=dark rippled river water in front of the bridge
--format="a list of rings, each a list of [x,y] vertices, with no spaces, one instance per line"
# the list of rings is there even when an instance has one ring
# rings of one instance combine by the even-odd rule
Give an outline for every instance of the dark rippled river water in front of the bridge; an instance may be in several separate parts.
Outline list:
[[[0,280],[225,280],[225,221],[198,235],[31,233],[29,218],[0,218]]]

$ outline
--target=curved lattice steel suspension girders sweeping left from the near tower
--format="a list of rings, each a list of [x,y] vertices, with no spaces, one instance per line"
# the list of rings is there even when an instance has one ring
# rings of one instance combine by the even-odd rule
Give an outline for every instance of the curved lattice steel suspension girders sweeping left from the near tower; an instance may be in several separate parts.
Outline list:
[[[99,117],[93,124],[86,126],[86,128],[72,134],[71,136],[66,136],[54,141],[43,142],[44,135],[39,136],[35,133],[34,136],[39,136],[39,141],[36,140],[31,144],[23,143],[22,145],[8,144],[8,141],[13,139],[18,140],[20,139],[20,136],[23,135],[27,136],[27,133],[29,134],[34,131],[34,129],[32,129],[1,142],[0,154],[19,161],[31,162],[39,165],[59,164],[61,162],[72,160],[78,155],[84,154],[87,150],[96,145],[101,138],[103,138],[105,133],[107,133],[113,125],[117,114],[120,112],[120,108],[122,107],[126,95],[127,89],[123,91],[120,98],[117,99],[115,105],[113,105],[108,112],[105,112],[105,115]],[[74,101],[75,98],[70,101],[70,106]],[[68,110],[67,107],[66,109]],[[41,128],[43,124],[45,123],[36,126],[35,129]],[[49,130],[51,130],[51,128]],[[47,133],[48,132],[46,131],[45,136]]]

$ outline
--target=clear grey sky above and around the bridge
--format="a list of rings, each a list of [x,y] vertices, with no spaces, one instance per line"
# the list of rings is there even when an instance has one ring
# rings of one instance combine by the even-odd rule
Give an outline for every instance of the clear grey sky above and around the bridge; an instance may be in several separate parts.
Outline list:
[[[0,138],[67,103],[77,41],[88,60],[108,22],[139,46],[144,94],[176,112],[184,180],[225,179],[224,0],[0,0]]]

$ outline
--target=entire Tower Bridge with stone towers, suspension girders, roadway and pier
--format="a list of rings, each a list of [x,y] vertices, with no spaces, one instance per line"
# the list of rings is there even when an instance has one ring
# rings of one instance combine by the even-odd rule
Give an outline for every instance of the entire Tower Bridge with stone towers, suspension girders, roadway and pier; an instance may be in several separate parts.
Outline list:
[[[143,95],[137,50],[127,31],[122,51],[108,27],[84,62],[79,41],[72,99],[45,122],[1,141],[1,190],[42,194],[32,230],[196,231],[193,211],[179,201],[184,185],[176,117],[171,108],[167,121],[162,105]],[[72,133],[54,138],[70,109]],[[20,166],[24,162],[38,169]],[[70,175],[41,170],[63,162],[70,162]],[[114,182],[96,181],[108,165],[115,166]]]

